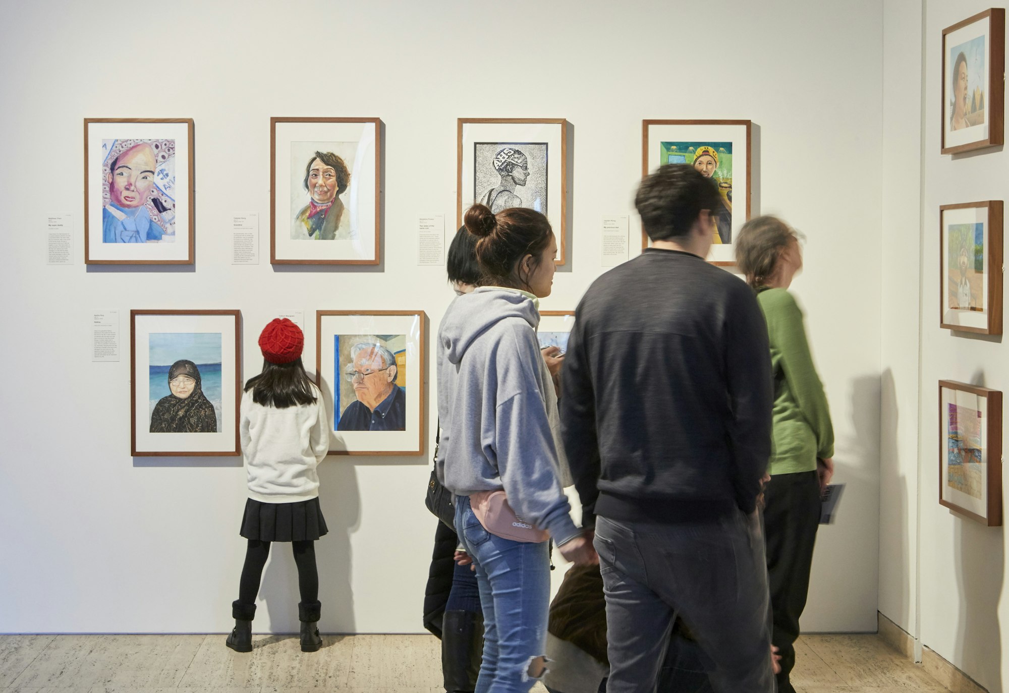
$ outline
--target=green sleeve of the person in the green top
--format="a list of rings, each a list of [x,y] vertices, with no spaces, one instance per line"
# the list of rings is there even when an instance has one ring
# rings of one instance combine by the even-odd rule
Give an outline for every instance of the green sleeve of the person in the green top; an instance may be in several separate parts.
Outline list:
[[[802,418],[816,437],[816,457],[833,457],[830,408],[823,392],[823,383],[813,365],[802,311],[791,294],[781,292],[780,298],[776,297],[774,302],[773,315],[774,318],[769,321],[771,343],[781,354],[781,367]]]

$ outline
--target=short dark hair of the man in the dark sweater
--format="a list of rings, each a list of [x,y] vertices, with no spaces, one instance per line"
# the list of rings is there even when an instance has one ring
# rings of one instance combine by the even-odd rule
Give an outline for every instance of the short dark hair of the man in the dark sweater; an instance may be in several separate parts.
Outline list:
[[[723,207],[717,184],[689,163],[667,163],[646,176],[634,204],[653,241],[686,236],[701,210],[714,215]]]

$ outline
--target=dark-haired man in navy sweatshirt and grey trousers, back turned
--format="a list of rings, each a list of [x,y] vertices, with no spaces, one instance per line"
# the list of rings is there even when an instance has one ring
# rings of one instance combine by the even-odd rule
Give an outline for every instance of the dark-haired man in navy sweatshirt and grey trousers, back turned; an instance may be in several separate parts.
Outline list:
[[[654,690],[678,614],[717,691],[771,693],[757,514],[771,452],[767,327],[749,286],[704,258],[721,201],[689,165],[645,178],[652,247],[575,313],[561,421],[606,588],[609,693]]]

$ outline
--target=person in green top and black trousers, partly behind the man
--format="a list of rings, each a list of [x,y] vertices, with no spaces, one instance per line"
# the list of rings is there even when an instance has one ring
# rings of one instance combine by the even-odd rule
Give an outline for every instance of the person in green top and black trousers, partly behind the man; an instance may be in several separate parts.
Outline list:
[[[833,427],[802,311],[788,293],[802,269],[796,232],[775,217],[752,219],[740,231],[736,258],[757,292],[771,344],[774,448],[764,487],[771,642],[781,657],[778,691],[792,693],[789,672],[809,591],[820,493],[833,474]]]

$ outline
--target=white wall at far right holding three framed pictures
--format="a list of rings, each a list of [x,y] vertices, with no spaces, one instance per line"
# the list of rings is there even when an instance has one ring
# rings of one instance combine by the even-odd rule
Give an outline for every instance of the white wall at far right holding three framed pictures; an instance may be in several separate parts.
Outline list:
[[[942,29],[991,6],[980,0],[925,4],[918,532],[922,645],[990,691],[1002,691],[1009,672],[1005,532],[940,506],[937,471],[938,380],[1009,389],[1004,337],[975,337],[938,327],[939,205],[1007,197],[1009,157],[1002,147],[957,156],[939,153]]]

